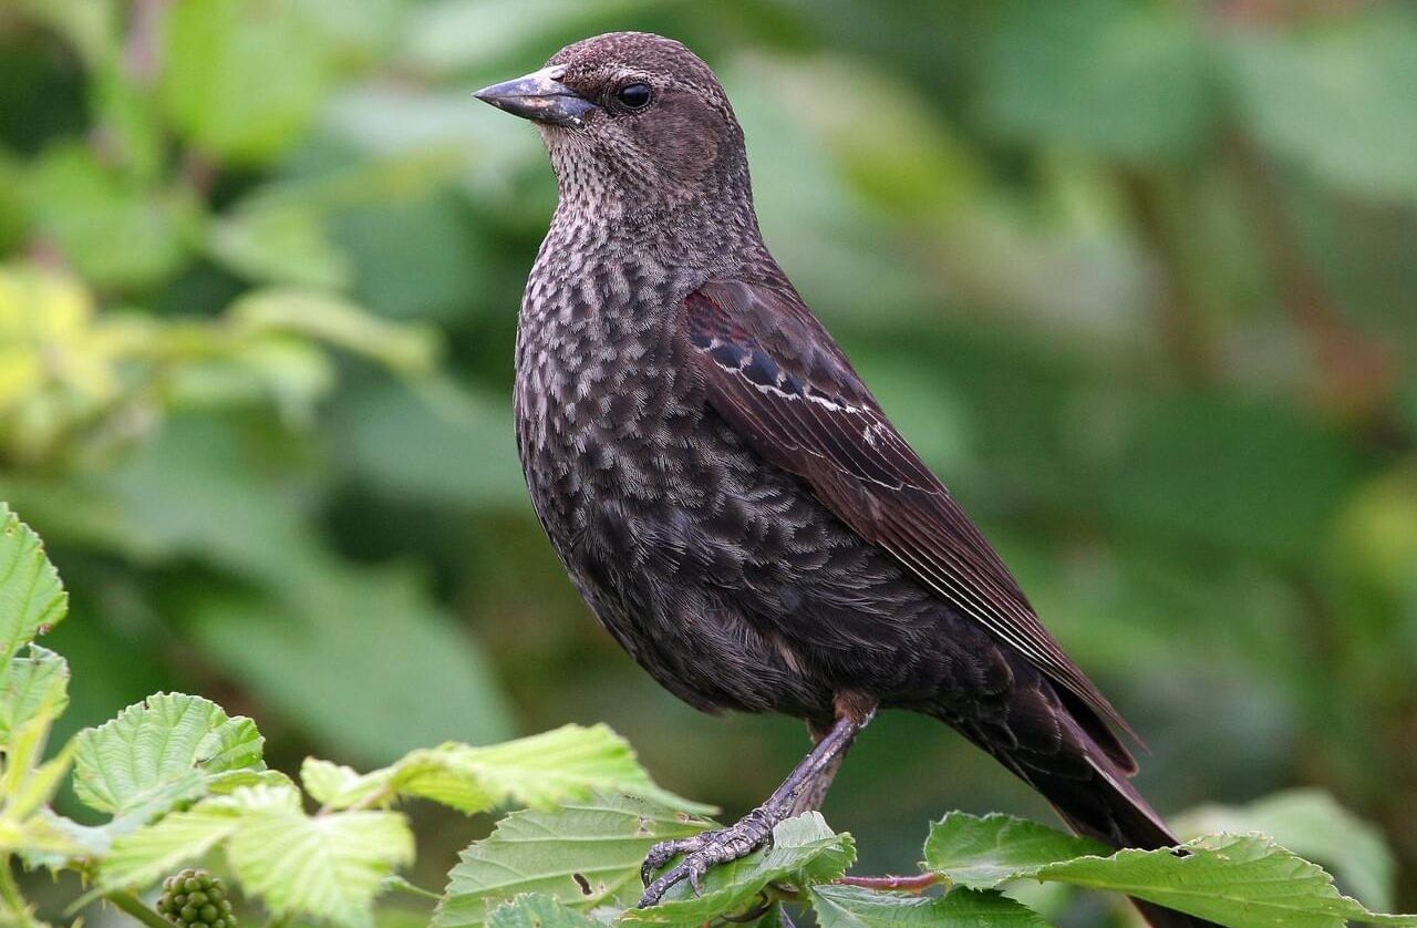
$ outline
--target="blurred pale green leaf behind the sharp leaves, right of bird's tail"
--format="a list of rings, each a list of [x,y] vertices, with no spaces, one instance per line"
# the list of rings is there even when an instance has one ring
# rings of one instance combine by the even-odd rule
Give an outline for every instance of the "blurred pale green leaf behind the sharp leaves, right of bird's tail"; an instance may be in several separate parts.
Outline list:
[[[1295,854],[1328,864],[1372,908],[1393,904],[1397,866],[1383,833],[1321,789],[1289,789],[1247,806],[1202,806],[1172,825],[1182,834],[1268,834]]]

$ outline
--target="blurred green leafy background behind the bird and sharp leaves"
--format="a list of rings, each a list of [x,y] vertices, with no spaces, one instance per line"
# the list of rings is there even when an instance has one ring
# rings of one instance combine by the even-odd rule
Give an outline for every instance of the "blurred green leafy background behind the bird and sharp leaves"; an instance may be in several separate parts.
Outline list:
[[[728,813],[801,755],[591,621],[509,411],[554,203],[469,92],[638,28],[713,64],[769,245],[1142,731],[1175,813],[1332,791],[1417,908],[1417,7],[1214,0],[0,0],[0,497],[74,728],[159,689],[268,757],[608,721]],[[887,715],[863,871],[1051,820]],[[427,817],[428,881],[485,823]]]

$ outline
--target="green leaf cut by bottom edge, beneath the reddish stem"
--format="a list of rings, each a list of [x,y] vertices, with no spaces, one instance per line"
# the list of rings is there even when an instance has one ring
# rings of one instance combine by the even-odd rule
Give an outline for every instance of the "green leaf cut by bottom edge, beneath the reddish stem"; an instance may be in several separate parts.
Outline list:
[[[998,893],[958,888],[930,898],[876,893],[854,885],[813,885],[809,891],[822,928],[1047,928],[1026,905]]]

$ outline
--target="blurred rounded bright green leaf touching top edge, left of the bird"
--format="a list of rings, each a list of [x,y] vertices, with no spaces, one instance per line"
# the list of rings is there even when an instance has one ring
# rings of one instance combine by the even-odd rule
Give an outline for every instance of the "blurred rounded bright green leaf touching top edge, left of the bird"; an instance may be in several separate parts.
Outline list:
[[[164,34],[160,99],[198,149],[261,162],[303,137],[332,75],[299,7],[187,0],[169,11]]]

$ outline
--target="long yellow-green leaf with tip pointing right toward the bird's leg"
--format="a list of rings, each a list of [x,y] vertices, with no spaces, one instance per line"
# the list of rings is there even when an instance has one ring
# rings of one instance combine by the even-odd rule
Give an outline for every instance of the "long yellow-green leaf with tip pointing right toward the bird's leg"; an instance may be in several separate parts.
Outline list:
[[[421,798],[461,812],[517,802],[548,809],[594,792],[623,792],[686,812],[711,812],[660,789],[629,744],[606,725],[564,725],[486,748],[444,744],[411,751],[368,774],[310,758],[300,768],[306,791],[334,809]]]

